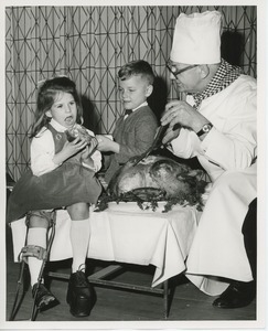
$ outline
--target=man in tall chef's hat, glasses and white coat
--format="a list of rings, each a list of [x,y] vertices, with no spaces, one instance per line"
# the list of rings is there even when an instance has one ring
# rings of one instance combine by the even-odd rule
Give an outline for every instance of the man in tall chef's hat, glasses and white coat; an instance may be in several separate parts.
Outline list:
[[[168,68],[186,99],[170,102],[161,124],[169,125],[163,143],[180,158],[197,157],[212,181],[186,276],[219,296],[215,307],[238,308],[256,293],[243,225],[257,196],[257,86],[221,57],[221,21],[218,11],[176,19]]]

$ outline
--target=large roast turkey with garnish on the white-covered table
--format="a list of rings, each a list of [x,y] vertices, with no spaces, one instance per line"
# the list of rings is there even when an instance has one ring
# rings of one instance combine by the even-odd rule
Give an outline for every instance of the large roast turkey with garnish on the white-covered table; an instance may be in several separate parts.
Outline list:
[[[167,201],[173,204],[190,204],[202,207],[202,194],[207,182],[202,170],[162,156],[148,156],[136,164],[130,159],[112,177],[106,192],[100,196],[98,209],[104,210],[111,201],[143,202]]]

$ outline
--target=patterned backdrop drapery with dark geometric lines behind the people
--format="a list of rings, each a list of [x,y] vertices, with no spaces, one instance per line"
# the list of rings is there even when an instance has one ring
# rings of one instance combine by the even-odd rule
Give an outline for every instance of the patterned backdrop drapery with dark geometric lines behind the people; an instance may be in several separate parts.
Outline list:
[[[223,56],[256,77],[254,6],[7,7],[7,172],[18,180],[30,164],[29,134],[39,82],[57,75],[74,79],[85,126],[111,134],[122,113],[117,89],[120,66],[148,61],[162,84],[156,87],[156,97],[163,103],[176,97],[165,67],[175,20],[180,12],[214,9],[223,13]]]

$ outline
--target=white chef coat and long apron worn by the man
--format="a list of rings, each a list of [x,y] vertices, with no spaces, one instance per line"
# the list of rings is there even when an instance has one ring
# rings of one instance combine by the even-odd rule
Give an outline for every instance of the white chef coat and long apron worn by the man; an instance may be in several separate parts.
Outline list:
[[[191,96],[186,99],[193,103]],[[213,185],[186,261],[186,276],[201,290],[219,295],[228,286],[216,277],[253,280],[242,226],[257,196],[257,84],[240,75],[204,99],[199,111],[212,124],[203,141],[182,128],[171,142],[180,158],[197,157]]]

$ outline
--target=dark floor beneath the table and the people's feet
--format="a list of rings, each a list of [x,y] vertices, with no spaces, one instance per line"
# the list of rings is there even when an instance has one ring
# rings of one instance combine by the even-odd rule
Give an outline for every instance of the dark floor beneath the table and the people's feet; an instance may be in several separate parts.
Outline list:
[[[7,228],[7,321],[14,300],[20,265],[12,261],[12,238],[10,228]],[[100,260],[88,260],[88,270],[96,271],[108,264]],[[51,263],[47,267],[63,273],[69,273],[71,260]],[[150,286],[153,275],[153,266],[125,265],[126,271],[118,274],[116,281],[133,282]],[[218,309],[212,306],[215,298],[206,296],[196,289],[182,275],[170,280],[170,310],[167,320],[163,318],[163,298],[158,295],[125,291],[112,288],[96,286],[97,301],[92,313],[87,318],[74,318],[66,303],[67,280],[50,279],[52,292],[60,300],[60,305],[36,317],[41,321],[75,321],[75,322],[106,322],[106,321],[162,321],[164,325],[169,322],[217,322],[221,321],[255,321],[256,301],[240,309]],[[31,290],[25,292],[22,305],[15,316],[15,321],[29,321],[32,309]],[[135,324],[136,325],[136,324]],[[139,325],[139,323],[138,323]],[[87,324],[90,328],[90,323]],[[105,327],[107,327],[105,324]]]

